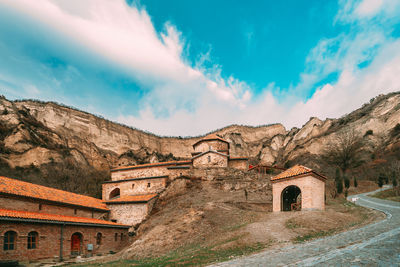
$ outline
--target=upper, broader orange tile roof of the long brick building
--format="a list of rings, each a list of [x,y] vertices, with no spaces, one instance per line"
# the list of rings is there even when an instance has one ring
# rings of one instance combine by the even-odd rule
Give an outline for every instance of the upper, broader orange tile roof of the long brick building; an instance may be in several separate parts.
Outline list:
[[[3,176],[0,176],[0,194],[1,193],[108,211],[107,206],[101,199]]]

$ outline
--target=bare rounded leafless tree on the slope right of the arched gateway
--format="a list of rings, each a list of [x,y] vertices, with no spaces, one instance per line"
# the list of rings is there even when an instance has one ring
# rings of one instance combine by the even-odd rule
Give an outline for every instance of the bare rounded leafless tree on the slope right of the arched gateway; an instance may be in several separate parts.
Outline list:
[[[341,132],[329,142],[322,152],[322,159],[341,169],[342,173],[361,163],[363,139],[353,131]]]

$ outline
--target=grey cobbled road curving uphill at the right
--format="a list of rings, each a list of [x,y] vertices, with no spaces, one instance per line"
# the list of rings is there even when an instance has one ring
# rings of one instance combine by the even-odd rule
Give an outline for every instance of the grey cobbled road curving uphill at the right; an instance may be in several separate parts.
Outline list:
[[[367,194],[349,199],[352,197],[358,197],[357,205],[386,213],[386,219],[215,266],[400,266],[400,203],[371,198]]]

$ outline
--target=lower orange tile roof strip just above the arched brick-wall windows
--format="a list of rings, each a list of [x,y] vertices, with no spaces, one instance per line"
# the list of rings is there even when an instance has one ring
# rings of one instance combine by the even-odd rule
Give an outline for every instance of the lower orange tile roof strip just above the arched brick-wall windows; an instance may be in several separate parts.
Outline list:
[[[26,220],[40,220],[48,222],[65,222],[65,223],[84,223],[84,224],[95,224],[95,225],[107,225],[107,226],[127,226],[124,224],[114,223],[110,221],[85,218],[85,217],[74,217],[56,214],[47,214],[30,211],[17,211],[0,209],[0,220],[4,218],[15,218],[15,219],[26,219]],[[129,227],[129,226],[127,226]]]

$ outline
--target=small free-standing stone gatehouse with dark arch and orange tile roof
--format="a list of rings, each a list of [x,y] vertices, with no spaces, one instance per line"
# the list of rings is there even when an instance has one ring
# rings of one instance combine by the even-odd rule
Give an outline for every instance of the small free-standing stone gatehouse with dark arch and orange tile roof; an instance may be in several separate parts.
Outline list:
[[[324,210],[326,177],[296,165],[271,178],[273,211]]]

